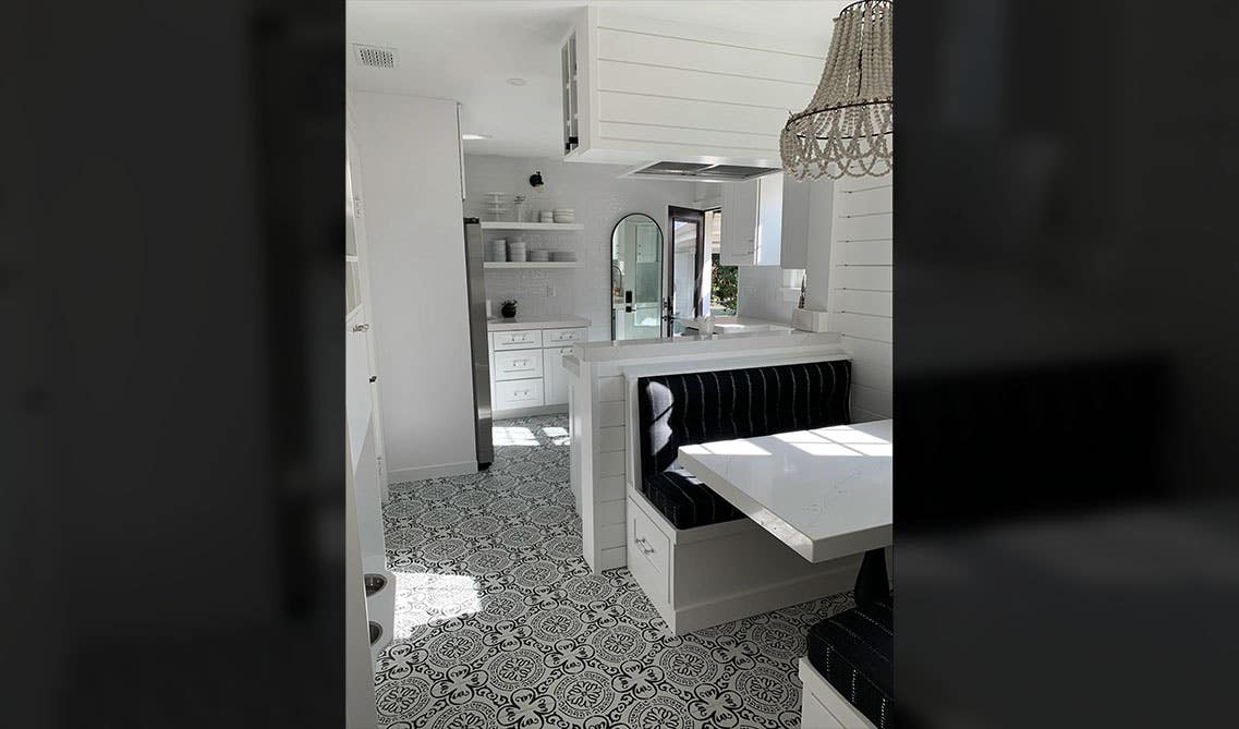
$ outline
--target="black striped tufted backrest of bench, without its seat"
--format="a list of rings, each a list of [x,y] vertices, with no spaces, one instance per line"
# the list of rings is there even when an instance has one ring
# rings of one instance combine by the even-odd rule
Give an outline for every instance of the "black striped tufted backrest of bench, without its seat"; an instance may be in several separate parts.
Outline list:
[[[667,470],[681,445],[846,425],[850,389],[847,360],[641,377],[642,474]]]

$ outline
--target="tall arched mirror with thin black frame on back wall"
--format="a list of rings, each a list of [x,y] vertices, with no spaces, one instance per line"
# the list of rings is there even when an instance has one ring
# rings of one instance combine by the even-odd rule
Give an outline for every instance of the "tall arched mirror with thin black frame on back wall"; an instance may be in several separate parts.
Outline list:
[[[663,229],[628,213],[611,232],[611,338],[658,338],[663,332]]]

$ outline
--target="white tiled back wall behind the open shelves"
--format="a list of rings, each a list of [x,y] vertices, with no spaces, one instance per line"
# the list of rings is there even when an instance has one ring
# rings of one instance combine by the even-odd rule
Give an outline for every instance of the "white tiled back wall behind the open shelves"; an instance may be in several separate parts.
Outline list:
[[[517,299],[525,315],[575,314],[590,320],[590,338],[611,338],[611,231],[631,212],[654,218],[667,236],[667,207],[693,207],[699,186],[694,182],[621,179],[621,165],[569,164],[555,159],[465,156],[466,214],[486,216],[486,193],[524,195],[525,214],[536,210],[571,207],[577,232],[487,231],[486,239],[523,238],[529,249],[572,249],[580,268],[486,272],[487,298],[496,310],[503,299]],[[529,186],[529,176],[541,170],[545,185]],[[509,197],[510,201],[510,197]],[[512,207],[509,202],[509,208]],[[510,216],[513,211],[509,210]],[[554,294],[548,294],[548,286]]]

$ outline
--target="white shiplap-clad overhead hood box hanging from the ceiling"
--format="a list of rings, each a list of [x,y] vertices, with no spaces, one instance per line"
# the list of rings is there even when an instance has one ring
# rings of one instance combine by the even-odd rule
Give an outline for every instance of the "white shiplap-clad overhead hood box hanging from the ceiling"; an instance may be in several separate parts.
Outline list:
[[[561,45],[569,161],[778,167],[788,113],[821,79],[825,43],[580,10]]]

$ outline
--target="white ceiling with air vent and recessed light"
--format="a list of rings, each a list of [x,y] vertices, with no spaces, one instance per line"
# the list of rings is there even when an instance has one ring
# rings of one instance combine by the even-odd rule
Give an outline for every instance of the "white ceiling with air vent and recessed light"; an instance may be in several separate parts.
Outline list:
[[[466,154],[563,154],[560,43],[579,9],[622,6],[629,15],[676,24],[742,29],[830,42],[836,0],[349,0],[346,4],[348,88],[456,99]],[[394,47],[394,71],[358,66],[353,43]],[[508,78],[527,81],[523,87]],[[808,100],[808,99],[805,99]]]

